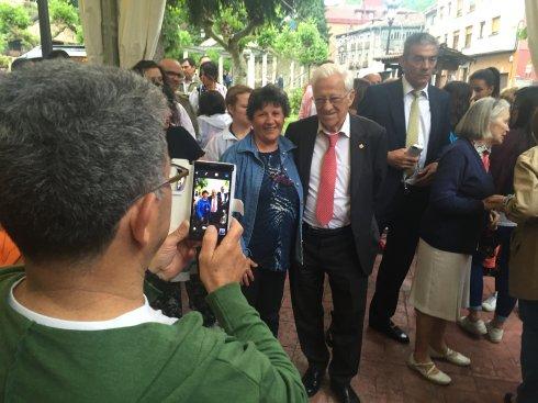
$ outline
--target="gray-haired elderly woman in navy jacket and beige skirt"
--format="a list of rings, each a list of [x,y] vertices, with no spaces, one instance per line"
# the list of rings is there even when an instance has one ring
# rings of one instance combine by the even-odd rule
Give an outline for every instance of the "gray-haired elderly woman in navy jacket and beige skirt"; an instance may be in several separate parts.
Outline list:
[[[471,257],[494,205],[485,200],[495,189],[487,172],[489,153],[503,142],[508,120],[504,100],[487,97],[471,105],[456,127],[459,139],[439,160],[423,216],[410,299],[416,310],[416,342],[407,363],[434,383],[448,384],[451,379],[431,358],[462,367],[471,363],[447,346],[445,329],[469,301]]]

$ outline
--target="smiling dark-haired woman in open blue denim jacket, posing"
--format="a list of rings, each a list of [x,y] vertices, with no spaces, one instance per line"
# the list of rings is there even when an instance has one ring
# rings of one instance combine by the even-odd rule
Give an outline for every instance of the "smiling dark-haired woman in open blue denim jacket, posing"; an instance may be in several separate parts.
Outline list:
[[[237,167],[235,197],[245,203],[243,245],[258,265],[244,279],[243,292],[274,336],[303,214],[303,190],[292,154],[295,146],[281,135],[289,113],[288,97],[278,87],[254,90],[247,107],[253,131],[221,158]]]

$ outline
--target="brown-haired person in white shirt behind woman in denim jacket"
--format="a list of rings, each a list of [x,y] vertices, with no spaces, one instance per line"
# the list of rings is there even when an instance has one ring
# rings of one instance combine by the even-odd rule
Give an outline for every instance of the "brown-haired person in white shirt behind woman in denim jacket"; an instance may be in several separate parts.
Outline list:
[[[203,159],[218,161],[226,149],[250,132],[251,124],[247,116],[248,98],[253,89],[237,85],[226,93],[226,109],[232,116],[232,124],[215,135],[205,146]]]

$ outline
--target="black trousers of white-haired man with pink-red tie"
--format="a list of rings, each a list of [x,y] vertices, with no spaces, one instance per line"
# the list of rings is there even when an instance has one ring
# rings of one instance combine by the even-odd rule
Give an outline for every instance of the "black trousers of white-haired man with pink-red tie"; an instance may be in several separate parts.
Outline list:
[[[360,268],[350,227],[314,230],[303,225],[304,265],[290,270],[295,325],[309,365],[325,369],[329,351],[323,326],[325,275],[333,295],[333,382],[347,384],[359,369],[368,277]]]

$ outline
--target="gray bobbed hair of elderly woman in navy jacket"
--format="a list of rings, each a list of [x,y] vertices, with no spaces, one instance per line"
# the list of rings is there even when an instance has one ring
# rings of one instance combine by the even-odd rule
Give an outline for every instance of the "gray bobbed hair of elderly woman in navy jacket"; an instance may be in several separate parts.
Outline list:
[[[456,134],[472,141],[490,138],[490,124],[503,112],[509,112],[509,103],[504,99],[486,97],[474,102],[456,126]]]

